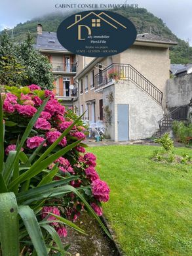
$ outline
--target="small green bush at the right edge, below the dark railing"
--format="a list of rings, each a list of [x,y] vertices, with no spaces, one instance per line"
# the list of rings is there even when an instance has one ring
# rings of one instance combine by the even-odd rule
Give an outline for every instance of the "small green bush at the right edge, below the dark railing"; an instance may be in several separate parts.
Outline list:
[[[185,125],[182,121],[174,121],[172,129],[179,142],[187,144],[187,137],[192,137],[192,123]]]

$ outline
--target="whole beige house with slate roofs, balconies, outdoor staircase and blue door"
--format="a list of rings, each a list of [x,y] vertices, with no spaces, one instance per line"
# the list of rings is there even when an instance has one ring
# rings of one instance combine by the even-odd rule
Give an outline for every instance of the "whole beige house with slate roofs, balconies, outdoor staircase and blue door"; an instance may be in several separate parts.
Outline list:
[[[56,96],[76,114],[85,112],[88,123],[103,121],[107,137],[116,141],[145,139],[159,129],[166,114],[172,45],[176,42],[144,33],[123,53],[92,58],[69,53],[56,33],[40,30],[37,37],[37,49],[47,55],[58,75]]]

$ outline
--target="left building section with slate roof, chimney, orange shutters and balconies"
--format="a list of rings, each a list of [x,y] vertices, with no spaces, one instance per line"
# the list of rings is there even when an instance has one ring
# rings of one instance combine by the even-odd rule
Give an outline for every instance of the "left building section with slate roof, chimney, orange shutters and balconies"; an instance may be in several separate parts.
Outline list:
[[[47,56],[52,64],[52,73],[56,77],[54,93],[67,106],[73,106],[77,100],[77,88],[74,85],[76,74],[76,56],[60,45],[56,33],[43,32],[41,24],[37,25],[37,45],[35,48]]]

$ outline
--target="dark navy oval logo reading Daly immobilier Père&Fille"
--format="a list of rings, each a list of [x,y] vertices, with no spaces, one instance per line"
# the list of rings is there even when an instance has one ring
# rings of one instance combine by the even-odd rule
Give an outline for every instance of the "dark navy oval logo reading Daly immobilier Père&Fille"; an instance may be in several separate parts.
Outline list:
[[[121,53],[136,40],[134,24],[109,11],[85,11],[66,18],[57,30],[60,44],[71,53],[103,57]]]

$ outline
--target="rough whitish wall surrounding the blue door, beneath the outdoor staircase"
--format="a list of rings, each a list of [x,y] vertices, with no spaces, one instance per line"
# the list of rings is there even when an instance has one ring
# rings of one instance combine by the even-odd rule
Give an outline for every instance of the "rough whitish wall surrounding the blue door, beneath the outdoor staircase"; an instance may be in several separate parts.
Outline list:
[[[111,85],[114,89],[114,123],[110,128],[112,140],[118,140],[117,105],[129,104],[129,139],[138,140],[151,137],[159,129],[158,121],[163,117],[163,108],[147,93],[142,91],[131,81],[119,81]],[[104,89],[104,95],[109,93]],[[114,109],[114,110],[113,110]]]

